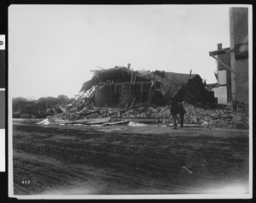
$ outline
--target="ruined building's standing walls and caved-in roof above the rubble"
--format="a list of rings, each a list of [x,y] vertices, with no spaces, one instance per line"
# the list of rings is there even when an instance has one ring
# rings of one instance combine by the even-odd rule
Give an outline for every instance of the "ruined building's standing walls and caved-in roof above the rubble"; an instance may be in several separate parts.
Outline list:
[[[80,92],[87,93],[96,106],[125,108],[139,103],[170,104],[172,98],[182,95],[190,104],[214,101],[201,76],[155,70],[135,71],[125,66],[108,70],[93,70],[94,76],[84,82]]]

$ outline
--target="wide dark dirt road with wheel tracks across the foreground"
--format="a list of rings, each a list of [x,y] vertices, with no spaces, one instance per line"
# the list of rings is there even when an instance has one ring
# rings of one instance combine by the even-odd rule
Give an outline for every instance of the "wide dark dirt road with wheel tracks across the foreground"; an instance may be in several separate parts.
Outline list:
[[[15,195],[247,192],[247,132],[15,123],[13,139]]]

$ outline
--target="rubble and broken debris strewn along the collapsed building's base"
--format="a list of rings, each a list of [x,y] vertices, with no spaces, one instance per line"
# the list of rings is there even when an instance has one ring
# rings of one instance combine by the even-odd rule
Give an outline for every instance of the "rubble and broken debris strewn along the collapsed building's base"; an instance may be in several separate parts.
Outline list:
[[[183,102],[186,110],[184,115],[185,125],[197,125],[202,127],[228,127],[236,128],[232,121],[232,105],[219,105],[215,108],[200,107],[198,105],[187,104]],[[239,115],[243,123],[240,127],[247,128],[248,107],[245,104],[238,105]],[[51,121],[84,121],[93,119],[109,118],[110,121],[141,121],[141,122],[160,122],[163,124],[172,124],[172,116],[169,106],[152,107],[148,103],[137,104],[125,109],[96,107],[90,99],[79,99],[74,104],[60,107],[60,114],[49,116]],[[105,120],[104,120],[105,121]]]

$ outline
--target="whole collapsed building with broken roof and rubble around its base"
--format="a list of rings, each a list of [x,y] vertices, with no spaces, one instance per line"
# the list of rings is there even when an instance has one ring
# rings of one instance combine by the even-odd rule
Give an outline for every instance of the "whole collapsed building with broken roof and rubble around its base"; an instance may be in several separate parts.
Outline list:
[[[213,91],[207,90],[201,76],[191,72],[135,71],[130,67],[94,70],[94,76],[80,89],[78,99],[60,106],[61,113],[47,116],[38,124],[145,126],[162,123],[167,127],[172,123],[167,104],[172,98],[182,96],[185,125],[236,127],[231,121],[230,105],[215,104]]]

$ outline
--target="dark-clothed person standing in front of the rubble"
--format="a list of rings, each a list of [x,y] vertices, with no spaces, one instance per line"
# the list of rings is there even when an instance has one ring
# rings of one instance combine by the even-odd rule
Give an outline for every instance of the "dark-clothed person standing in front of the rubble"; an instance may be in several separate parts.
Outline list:
[[[172,98],[170,111],[173,119],[173,129],[177,129],[177,114],[180,116],[180,127],[183,127],[184,114],[186,113],[186,110],[183,107],[181,98],[177,95]]]

